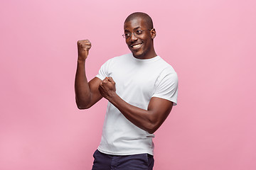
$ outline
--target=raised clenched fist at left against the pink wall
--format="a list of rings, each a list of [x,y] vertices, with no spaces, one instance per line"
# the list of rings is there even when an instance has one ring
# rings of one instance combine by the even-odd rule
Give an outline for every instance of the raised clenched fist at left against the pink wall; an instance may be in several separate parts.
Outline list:
[[[92,47],[90,40],[78,41],[78,60],[85,60],[89,54],[89,50]]]

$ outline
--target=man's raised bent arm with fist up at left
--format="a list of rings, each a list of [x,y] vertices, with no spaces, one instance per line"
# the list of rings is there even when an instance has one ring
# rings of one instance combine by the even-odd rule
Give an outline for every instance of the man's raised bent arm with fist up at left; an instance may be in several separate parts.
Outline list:
[[[75,74],[75,101],[79,109],[90,108],[102,98],[98,90],[101,80],[97,77],[90,82],[85,74],[85,60],[92,47],[89,40],[78,41],[78,66]]]

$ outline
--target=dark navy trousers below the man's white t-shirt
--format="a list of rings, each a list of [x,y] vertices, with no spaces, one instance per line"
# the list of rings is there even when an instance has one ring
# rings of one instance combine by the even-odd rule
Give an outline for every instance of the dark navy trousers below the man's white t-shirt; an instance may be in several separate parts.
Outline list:
[[[96,150],[92,170],[152,170],[154,157],[150,154],[117,156]]]

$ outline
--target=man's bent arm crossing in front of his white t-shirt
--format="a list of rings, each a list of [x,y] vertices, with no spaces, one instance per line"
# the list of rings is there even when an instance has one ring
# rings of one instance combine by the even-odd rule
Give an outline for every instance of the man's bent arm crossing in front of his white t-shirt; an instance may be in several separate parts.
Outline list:
[[[100,94],[112,103],[130,122],[137,127],[154,133],[171,112],[173,102],[152,97],[147,110],[132,106],[116,94],[115,82],[106,77],[99,86]]]

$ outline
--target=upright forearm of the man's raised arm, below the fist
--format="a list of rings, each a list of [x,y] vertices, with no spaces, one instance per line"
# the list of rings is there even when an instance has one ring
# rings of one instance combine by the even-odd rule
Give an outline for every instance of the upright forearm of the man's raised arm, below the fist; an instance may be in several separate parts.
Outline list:
[[[91,100],[90,86],[85,74],[85,60],[78,60],[75,74],[75,101],[78,108],[87,108]]]

